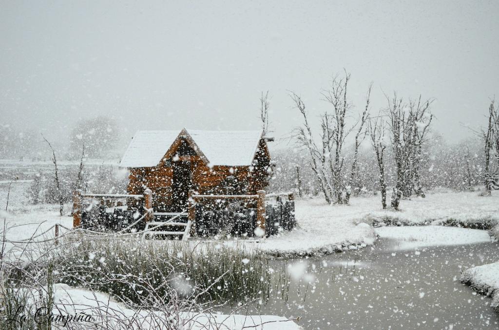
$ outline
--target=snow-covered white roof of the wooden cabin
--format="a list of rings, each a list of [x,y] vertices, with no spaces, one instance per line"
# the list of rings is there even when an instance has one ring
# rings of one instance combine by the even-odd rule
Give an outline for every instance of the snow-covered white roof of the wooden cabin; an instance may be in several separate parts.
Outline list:
[[[261,131],[187,130],[210,165],[249,166]],[[138,131],[123,156],[123,167],[151,167],[160,163],[181,131]]]

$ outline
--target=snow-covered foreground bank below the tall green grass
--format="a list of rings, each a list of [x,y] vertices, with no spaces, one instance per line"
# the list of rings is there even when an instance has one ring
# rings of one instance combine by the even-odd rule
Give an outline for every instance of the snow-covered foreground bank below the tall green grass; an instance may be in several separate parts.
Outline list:
[[[45,287],[46,289],[46,287]],[[44,290],[45,290],[44,289]],[[43,290],[43,291],[44,291]],[[32,292],[35,297],[38,292]],[[44,295],[44,293],[43,293]],[[52,313],[55,316],[90,316],[90,319],[67,319],[67,324],[56,323],[54,326],[61,328],[94,329],[96,325],[106,324],[106,329],[158,329],[164,326],[163,321],[171,326],[169,329],[190,330],[299,330],[301,329],[293,320],[272,315],[238,315],[238,314],[212,314],[179,312],[179,318],[175,314],[166,311],[151,312],[148,310],[134,311],[125,305],[116,302],[108,294],[89,291],[81,288],[73,288],[66,284],[55,284],[53,286],[54,306]],[[159,324],[158,324],[159,323]]]

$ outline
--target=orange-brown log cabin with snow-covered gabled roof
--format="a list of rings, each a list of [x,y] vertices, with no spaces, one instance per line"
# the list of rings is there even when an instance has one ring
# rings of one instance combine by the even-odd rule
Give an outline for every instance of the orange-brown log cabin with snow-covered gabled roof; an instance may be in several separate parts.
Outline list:
[[[272,173],[262,131],[138,131],[120,166],[130,171],[128,194],[152,190],[159,212],[180,212],[188,191],[256,194]]]

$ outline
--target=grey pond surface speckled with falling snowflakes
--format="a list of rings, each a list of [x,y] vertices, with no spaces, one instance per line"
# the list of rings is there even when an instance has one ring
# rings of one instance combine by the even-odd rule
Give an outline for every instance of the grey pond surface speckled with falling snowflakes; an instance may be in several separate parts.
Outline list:
[[[381,238],[373,248],[297,260],[289,295],[260,313],[300,316],[304,329],[499,328],[492,299],[459,281],[462,270],[499,260],[497,242],[401,250],[405,243]]]

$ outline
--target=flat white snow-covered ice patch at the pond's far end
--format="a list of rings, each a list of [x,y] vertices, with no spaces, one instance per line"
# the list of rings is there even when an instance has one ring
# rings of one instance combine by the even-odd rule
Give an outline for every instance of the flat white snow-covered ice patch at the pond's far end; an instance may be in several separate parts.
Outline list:
[[[463,245],[491,242],[489,232],[443,226],[380,227],[376,233],[381,238],[396,240],[396,249],[408,250],[427,246]]]

